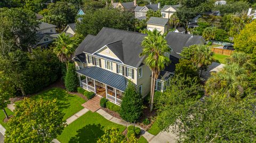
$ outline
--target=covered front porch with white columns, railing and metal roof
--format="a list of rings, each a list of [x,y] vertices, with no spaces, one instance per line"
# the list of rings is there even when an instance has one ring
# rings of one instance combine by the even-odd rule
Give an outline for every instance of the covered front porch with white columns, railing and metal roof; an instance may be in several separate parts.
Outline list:
[[[80,86],[95,94],[121,105],[127,80],[119,74],[89,66],[77,71]],[[97,73],[97,74],[95,74]]]

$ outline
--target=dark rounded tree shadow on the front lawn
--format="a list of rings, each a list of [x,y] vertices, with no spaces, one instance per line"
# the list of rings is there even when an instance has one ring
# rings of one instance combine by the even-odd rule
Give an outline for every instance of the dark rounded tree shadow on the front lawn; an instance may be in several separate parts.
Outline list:
[[[77,135],[69,140],[69,143],[75,142],[97,142],[98,138],[104,134],[103,127],[100,124],[88,124],[77,131]]]

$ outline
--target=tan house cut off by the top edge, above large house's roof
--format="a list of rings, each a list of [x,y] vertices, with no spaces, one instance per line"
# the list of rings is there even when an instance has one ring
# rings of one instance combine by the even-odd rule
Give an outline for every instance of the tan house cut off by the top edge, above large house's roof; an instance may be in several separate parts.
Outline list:
[[[130,12],[134,12],[135,7],[137,6],[137,1],[134,0],[133,2],[126,2],[126,3],[114,3],[113,0],[111,0],[111,5],[115,8],[115,9],[121,9],[123,11],[130,11]]]

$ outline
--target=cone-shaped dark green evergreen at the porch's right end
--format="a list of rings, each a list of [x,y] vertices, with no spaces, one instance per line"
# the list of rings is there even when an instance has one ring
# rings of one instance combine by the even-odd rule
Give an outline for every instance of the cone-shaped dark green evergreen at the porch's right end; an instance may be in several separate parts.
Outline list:
[[[128,83],[122,100],[120,111],[122,119],[132,123],[137,122],[142,115],[143,103],[141,95],[131,82]]]

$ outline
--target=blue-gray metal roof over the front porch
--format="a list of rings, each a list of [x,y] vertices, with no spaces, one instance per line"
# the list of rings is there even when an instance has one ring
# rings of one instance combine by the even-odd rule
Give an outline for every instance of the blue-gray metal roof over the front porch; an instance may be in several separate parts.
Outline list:
[[[97,80],[120,91],[124,91],[126,89],[128,82],[128,79],[123,77],[123,75],[101,69],[97,66],[87,66],[81,70],[77,70],[77,73],[83,74],[86,77]]]

